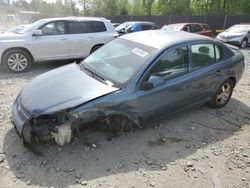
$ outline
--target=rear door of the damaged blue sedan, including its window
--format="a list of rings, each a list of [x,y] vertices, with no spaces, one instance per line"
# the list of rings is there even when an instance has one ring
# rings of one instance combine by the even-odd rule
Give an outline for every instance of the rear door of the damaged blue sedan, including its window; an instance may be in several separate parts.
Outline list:
[[[209,42],[191,45],[192,59],[192,101],[199,102],[211,98],[222,79],[223,70],[218,63],[222,58],[222,49]]]

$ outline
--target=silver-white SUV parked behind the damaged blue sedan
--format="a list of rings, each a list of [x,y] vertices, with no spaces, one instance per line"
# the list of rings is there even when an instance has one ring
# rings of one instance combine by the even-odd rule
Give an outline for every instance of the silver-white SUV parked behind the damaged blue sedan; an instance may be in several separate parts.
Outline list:
[[[25,72],[33,62],[82,59],[118,34],[105,18],[42,19],[15,33],[0,34],[0,63]]]

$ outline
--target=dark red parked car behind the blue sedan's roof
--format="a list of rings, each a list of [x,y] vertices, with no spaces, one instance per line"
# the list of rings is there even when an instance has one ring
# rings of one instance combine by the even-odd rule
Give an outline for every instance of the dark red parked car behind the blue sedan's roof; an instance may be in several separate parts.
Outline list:
[[[213,37],[213,30],[210,29],[207,24],[202,23],[169,24],[164,25],[161,29],[166,31],[187,31],[189,33],[196,33],[208,37]]]

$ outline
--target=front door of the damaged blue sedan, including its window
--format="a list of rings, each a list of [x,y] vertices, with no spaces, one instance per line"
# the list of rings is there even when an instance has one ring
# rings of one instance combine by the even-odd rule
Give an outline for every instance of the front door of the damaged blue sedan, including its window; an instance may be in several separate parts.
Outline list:
[[[188,47],[178,46],[165,51],[149,68],[142,83],[150,82],[151,78],[161,82],[154,83],[151,89],[137,92],[143,124],[170,115],[189,104],[191,73],[188,67]]]

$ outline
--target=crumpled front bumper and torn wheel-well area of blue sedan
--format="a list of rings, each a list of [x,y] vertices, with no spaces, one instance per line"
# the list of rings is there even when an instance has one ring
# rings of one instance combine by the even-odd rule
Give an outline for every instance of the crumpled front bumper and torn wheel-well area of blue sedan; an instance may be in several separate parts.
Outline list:
[[[126,103],[107,103],[100,99],[97,103],[92,101],[50,113],[29,112],[18,96],[12,108],[12,123],[24,144],[54,139],[57,144],[64,145],[71,141],[73,135],[78,136],[80,130],[90,127],[116,133],[127,131],[140,124],[134,110]]]

